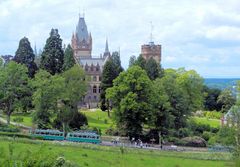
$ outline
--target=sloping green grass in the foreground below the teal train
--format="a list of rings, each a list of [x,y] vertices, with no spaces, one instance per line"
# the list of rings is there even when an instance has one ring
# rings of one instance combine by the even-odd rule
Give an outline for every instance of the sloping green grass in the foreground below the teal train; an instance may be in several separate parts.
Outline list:
[[[206,160],[214,157],[228,157],[227,153],[162,152],[142,149],[124,149],[66,142],[43,142],[28,139],[0,138],[0,151],[8,150],[12,143],[14,158],[26,151],[32,153],[41,149],[41,154],[57,154],[80,166],[92,167],[224,167],[230,161]],[[216,155],[215,155],[216,154]],[[225,155],[226,154],[226,155]],[[0,156],[0,159],[2,157]]]

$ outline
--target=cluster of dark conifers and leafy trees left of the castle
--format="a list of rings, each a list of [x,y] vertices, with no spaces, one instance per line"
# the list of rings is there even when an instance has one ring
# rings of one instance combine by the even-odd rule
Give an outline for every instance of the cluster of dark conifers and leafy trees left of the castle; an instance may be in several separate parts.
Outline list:
[[[0,106],[8,124],[13,112],[33,110],[38,128],[79,129],[87,124],[78,103],[87,88],[86,76],[75,65],[70,45],[63,50],[57,29],[46,41],[39,67],[26,37],[20,40],[10,63],[0,66]]]

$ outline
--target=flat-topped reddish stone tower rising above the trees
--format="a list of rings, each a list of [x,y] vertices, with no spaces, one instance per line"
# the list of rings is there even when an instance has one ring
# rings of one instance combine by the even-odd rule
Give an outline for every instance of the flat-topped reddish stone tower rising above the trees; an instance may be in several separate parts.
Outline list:
[[[156,62],[161,63],[162,47],[161,45],[155,45],[154,42],[150,42],[142,45],[141,54],[145,60],[152,57]]]

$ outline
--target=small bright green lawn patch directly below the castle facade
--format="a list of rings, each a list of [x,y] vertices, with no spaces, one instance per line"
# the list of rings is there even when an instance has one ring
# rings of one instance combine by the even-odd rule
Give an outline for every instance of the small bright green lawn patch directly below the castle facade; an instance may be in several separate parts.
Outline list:
[[[113,126],[113,122],[111,118],[108,117],[107,112],[103,112],[99,109],[95,111],[85,110],[81,112],[87,116],[89,127],[100,128],[103,135],[105,134],[106,129]]]

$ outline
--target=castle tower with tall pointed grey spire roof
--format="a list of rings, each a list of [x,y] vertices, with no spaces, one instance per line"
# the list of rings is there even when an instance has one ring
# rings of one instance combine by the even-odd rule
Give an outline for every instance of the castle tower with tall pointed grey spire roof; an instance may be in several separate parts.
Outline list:
[[[84,17],[79,16],[76,31],[72,35],[72,48],[77,60],[92,57],[92,36],[88,33]]]

